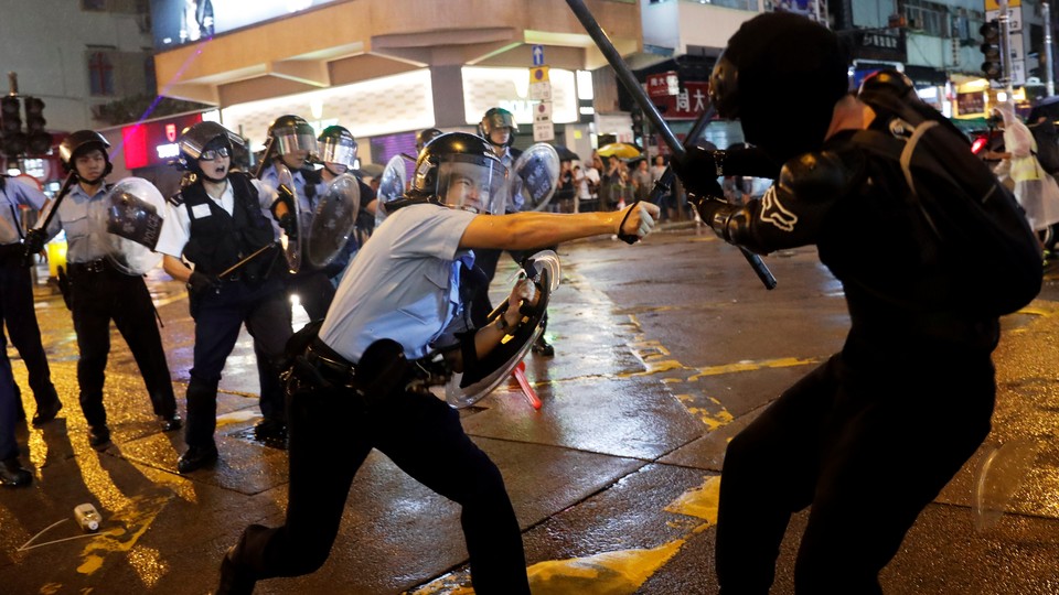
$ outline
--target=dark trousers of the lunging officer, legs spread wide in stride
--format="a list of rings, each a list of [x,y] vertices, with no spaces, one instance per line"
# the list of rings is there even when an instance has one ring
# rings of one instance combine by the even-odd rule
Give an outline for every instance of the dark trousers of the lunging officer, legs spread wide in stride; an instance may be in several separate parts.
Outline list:
[[[528,594],[522,536],[500,470],[437,397],[396,392],[365,411],[347,390],[288,403],[290,484],[286,524],[250,526],[235,562],[257,577],[319,569],[334,543],[353,476],[378,448],[405,473],[463,507],[475,593]]]

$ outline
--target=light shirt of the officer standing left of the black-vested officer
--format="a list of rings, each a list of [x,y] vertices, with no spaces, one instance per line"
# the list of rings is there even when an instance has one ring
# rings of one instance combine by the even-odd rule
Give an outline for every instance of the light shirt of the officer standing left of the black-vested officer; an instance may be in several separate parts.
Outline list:
[[[60,229],[66,231],[66,261],[92,262],[110,253],[107,234],[107,196],[113,184],[103,184],[88,196],[81,184],[74,184],[69,194],[58,204],[46,232],[51,239]]]

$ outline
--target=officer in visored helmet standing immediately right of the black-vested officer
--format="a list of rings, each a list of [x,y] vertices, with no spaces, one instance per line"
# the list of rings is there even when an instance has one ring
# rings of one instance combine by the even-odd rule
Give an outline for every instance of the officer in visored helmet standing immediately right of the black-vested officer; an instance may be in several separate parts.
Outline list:
[[[276,118],[268,127],[268,134],[272,138],[272,155],[267,158],[271,164],[261,173],[261,181],[274,188],[279,187],[277,164],[281,163],[290,170],[295,183],[291,190],[301,209],[302,220],[299,225],[304,228],[317,206],[315,185],[306,180],[310,158],[317,152],[317,134],[304,118],[290,115]],[[290,231],[287,229],[288,235]],[[334,285],[323,271],[302,262],[297,273],[287,277],[286,284],[288,298],[298,296],[310,321],[320,320],[328,313],[328,306],[334,298]]]

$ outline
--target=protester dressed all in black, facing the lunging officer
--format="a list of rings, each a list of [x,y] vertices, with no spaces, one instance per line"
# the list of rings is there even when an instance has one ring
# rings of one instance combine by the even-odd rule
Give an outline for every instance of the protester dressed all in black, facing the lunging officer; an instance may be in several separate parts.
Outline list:
[[[922,215],[907,208],[898,160],[855,144],[860,131],[894,139],[900,130],[848,93],[847,66],[836,35],[813,21],[791,13],[747,21],[714,68],[710,94],[757,149],[692,150],[677,164],[703,221],[728,242],[758,253],[815,245],[843,284],[852,322],[842,351],[728,445],[717,520],[721,593],[769,592],[791,515],[806,507],[795,589],[881,593],[879,571],[990,432],[997,320],[923,291],[951,285],[954,272],[924,267],[929,236],[914,231]],[[879,84],[917,101],[898,77]],[[791,89],[779,109],[778,93]],[[713,198],[727,175],[777,183],[762,198],[731,205]],[[899,469],[899,480],[887,469]]]

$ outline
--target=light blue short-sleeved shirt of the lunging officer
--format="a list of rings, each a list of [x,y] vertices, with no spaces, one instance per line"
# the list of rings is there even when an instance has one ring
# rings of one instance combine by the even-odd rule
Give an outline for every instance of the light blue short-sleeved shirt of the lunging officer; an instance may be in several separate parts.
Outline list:
[[[426,356],[460,312],[459,262],[474,262],[460,238],[474,217],[437,204],[386,217],[339,283],[323,343],[354,364],[382,338],[400,343],[408,359]]]

